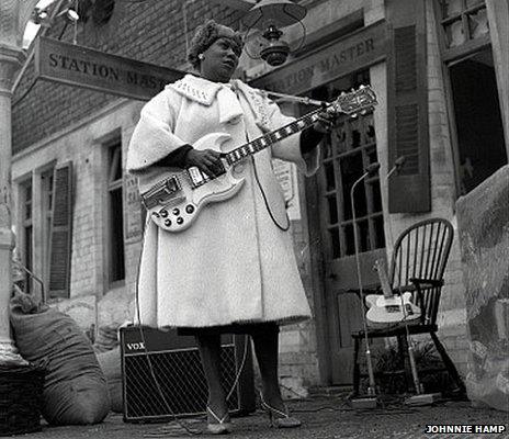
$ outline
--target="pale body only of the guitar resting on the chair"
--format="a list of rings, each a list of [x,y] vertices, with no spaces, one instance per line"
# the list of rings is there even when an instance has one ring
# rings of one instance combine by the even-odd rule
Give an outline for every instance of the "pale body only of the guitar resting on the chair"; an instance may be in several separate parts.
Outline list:
[[[366,304],[370,307],[366,314],[367,323],[373,328],[385,328],[398,323],[410,323],[420,318],[420,308],[411,303],[411,293],[395,294],[391,297],[385,297],[381,294],[369,294],[365,297]]]

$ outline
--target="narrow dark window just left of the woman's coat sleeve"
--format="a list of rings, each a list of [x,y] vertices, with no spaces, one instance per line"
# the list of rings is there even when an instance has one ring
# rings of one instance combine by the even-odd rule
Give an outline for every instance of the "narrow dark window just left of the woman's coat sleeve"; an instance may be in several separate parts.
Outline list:
[[[125,279],[122,143],[108,146],[110,284]]]

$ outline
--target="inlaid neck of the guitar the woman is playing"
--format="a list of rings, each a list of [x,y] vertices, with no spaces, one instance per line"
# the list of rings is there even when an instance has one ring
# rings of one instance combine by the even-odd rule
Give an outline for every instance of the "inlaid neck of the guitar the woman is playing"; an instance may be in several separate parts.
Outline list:
[[[252,142],[249,142],[229,153],[226,153],[226,161],[228,162],[228,165],[235,165],[242,158],[261,151],[262,149],[265,149],[272,144],[282,140],[283,138],[286,138],[292,134],[298,133],[299,131],[303,131],[308,126],[312,126],[318,119],[318,113],[320,112],[320,110],[321,109],[312,111],[310,113],[307,113],[305,116],[299,117],[296,121],[287,125],[284,125],[281,128],[272,131],[263,136],[256,138]]]

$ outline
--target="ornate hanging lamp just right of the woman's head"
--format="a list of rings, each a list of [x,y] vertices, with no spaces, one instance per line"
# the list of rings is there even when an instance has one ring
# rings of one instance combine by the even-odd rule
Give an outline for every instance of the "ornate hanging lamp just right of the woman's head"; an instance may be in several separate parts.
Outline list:
[[[291,0],[261,0],[241,19],[248,27],[246,33],[246,53],[250,58],[262,58],[271,66],[286,61],[291,52],[290,44],[283,36],[282,27],[299,23],[303,36],[298,47],[304,43],[306,29],[302,22],[307,10]]]

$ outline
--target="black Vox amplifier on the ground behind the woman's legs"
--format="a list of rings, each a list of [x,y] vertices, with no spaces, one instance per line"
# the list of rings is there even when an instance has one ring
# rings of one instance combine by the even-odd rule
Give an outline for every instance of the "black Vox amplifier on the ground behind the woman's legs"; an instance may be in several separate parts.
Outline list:
[[[124,421],[169,421],[173,415],[205,413],[207,386],[194,337],[145,326],[124,327],[120,334]],[[244,335],[222,336],[220,358],[223,387],[226,393],[233,389],[230,413],[255,412],[249,339]]]

